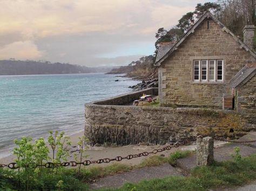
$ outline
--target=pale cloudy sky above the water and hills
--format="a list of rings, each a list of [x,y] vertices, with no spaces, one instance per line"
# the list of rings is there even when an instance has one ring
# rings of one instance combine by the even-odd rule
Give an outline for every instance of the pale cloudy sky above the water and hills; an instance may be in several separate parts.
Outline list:
[[[0,0],[0,59],[126,65],[204,0]]]

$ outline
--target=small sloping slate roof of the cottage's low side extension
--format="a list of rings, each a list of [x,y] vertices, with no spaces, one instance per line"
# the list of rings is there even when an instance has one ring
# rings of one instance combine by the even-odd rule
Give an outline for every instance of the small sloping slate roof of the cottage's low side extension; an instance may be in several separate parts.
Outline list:
[[[256,63],[248,64],[243,67],[235,76],[228,82],[229,86],[236,88],[239,85],[245,84],[256,74]]]

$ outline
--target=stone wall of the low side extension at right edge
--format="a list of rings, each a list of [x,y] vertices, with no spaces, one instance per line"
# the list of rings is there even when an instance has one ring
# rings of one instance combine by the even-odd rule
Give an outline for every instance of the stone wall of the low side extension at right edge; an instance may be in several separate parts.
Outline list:
[[[256,76],[237,88],[237,110],[250,123],[256,124]]]

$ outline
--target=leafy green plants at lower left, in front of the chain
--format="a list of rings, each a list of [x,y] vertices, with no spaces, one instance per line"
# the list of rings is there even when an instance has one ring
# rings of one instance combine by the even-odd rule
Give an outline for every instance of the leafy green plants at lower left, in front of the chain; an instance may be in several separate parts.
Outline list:
[[[85,137],[79,138],[80,157],[84,157],[85,140]],[[61,167],[47,169],[41,166],[48,159],[53,162],[66,161],[71,143],[70,138],[64,136],[64,132],[56,131],[54,134],[50,132],[48,143],[53,151],[51,157],[49,157],[49,149],[43,138],[35,140],[34,143],[31,141],[30,137],[15,139],[16,146],[13,152],[17,158],[15,161],[20,168],[17,171],[0,168],[0,190],[89,189],[83,181],[79,180],[77,172],[71,174],[66,173],[65,169]],[[54,176],[53,173],[55,173]]]

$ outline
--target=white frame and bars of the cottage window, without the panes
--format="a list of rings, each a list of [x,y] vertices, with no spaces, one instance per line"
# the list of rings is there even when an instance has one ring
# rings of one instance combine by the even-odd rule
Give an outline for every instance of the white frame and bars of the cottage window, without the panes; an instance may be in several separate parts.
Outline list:
[[[202,61],[206,60],[206,80],[202,79]],[[214,79],[210,80],[210,62],[214,61]],[[222,72],[221,72],[221,76],[222,79],[218,80],[218,61],[222,62]],[[195,62],[199,63],[199,79],[195,80],[194,79],[194,66],[195,66]],[[223,59],[201,59],[201,60],[193,60],[193,77],[192,77],[194,82],[202,82],[202,83],[212,83],[212,82],[224,82],[224,60]]]

